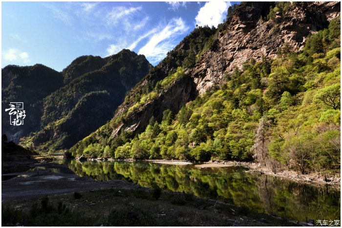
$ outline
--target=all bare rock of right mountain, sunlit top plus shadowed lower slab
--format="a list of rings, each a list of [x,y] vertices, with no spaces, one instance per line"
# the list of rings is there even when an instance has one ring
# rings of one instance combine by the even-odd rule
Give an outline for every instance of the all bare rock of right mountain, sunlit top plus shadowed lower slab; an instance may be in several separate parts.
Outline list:
[[[225,75],[230,74],[235,67],[241,68],[251,58],[256,61],[261,61],[262,56],[276,58],[278,49],[283,46],[288,46],[291,51],[300,50],[310,33],[327,27],[331,20],[340,16],[340,7],[340,2],[293,2],[284,14],[276,12],[273,20],[266,21],[270,3],[241,4],[233,18],[218,32],[212,48],[202,55],[193,68],[185,70],[189,78],[173,84],[167,92],[159,94],[156,100],[147,103],[139,112],[116,124],[111,138],[121,129],[140,133],[151,116],[161,120],[161,114],[166,109],[177,113],[184,104],[222,83]],[[174,51],[180,51],[185,45],[182,42]],[[165,61],[163,64],[165,66],[157,66],[163,73],[156,74],[155,78],[146,78],[143,83],[160,80],[175,65],[166,64]],[[122,106],[114,119],[131,105]]]

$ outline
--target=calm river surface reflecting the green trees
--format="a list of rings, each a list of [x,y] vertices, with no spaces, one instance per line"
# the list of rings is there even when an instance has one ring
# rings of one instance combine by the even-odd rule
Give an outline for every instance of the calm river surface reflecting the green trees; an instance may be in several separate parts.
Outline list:
[[[98,181],[124,180],[208,197],[283,218],[306,221],[341,220],[340,190],[310,186],[266,175],[246,173],[244,167],[197,168],[150,162],[64,160],[79,176]]]

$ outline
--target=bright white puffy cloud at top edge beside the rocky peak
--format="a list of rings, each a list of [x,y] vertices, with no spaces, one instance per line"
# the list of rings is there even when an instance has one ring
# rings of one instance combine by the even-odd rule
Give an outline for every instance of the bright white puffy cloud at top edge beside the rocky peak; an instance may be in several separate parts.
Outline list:
[[[227,15],[227,9],[231,3],[225,1],[209,1],[199,9],[195,18],[196,24],[199,26],[217,26],[222,23]]]

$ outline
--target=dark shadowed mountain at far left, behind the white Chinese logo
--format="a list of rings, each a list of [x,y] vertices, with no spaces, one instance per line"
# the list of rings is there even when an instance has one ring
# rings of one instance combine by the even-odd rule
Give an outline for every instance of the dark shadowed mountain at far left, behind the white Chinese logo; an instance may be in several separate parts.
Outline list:
[[[63,75],[54,69],[36,64],[30,67],[7,66],[1,70],[1,121],[2,134],[10,140],[19,139],[36,131],[43,115],[43,98],[63,86]],[[10,125],[10,116],[5,109],[10,102],[23,102],[26,112],[24,124]]]

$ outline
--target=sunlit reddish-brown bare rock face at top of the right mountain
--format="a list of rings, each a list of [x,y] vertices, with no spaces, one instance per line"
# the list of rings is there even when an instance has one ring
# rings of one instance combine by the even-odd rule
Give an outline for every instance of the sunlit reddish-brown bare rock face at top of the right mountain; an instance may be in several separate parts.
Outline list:
[[[265,17],[264,2],[246,2],[239,7],[230,23],[225,23],[216,40],[216,49],[208,50],[189,73],[199,94],[222,82],[223,76],[235,67],[264,55],[275,58],[277,51],[288,45],[291,51],[300,50],[310,33],[328,26],[340,16],[341,2],[293,2],[288,11],[276,14],[272,21]]]

